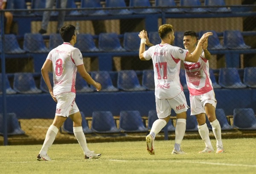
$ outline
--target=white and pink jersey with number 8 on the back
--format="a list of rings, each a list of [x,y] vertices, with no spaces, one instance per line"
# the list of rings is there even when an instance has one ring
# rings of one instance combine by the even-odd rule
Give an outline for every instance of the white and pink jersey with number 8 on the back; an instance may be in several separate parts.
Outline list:
[[[76,93],[76,66],[84,64],[79,49],[74,48],[68,42],[64,42],[52,49],[47,59],[52,61],[53,94]]]

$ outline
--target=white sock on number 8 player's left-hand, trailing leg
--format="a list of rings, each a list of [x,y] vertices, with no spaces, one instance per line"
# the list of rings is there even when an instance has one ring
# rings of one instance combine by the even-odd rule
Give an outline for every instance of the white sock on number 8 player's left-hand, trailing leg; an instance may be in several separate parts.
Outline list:
[[[47,151],[52,146],[52,143],[54,142],[57,134],[58,134],[58,128],[53,125],[49,126],[44,139],[44,144],[42,146],[41,151],[39,152],[40,155],[45,156],[47,154]]]

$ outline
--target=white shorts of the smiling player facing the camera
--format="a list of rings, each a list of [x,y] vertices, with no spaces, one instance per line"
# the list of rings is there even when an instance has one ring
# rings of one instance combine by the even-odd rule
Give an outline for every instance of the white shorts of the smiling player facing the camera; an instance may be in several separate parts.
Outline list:
[[[217,101],[213,90],[202,95],[190,95],[191,115],[205,113],[204,106],[207,103],[212,104],[216,108]]]

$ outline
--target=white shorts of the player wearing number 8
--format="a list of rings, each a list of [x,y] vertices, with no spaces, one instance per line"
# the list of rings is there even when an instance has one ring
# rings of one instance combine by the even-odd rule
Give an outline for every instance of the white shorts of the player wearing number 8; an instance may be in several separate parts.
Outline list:
[[[55,115],[68,117],[69,115],[79,112],[79,109],[76,105],[76,93],[62,93],[56,95],[58,101],[56,106]]]

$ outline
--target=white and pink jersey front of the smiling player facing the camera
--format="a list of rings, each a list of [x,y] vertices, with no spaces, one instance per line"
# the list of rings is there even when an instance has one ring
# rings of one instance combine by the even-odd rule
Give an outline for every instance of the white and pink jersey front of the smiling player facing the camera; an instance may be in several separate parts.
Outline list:
[[[202,51],[198,62],[184,61],[184,67],[190,95],[202,95],[213,89],[209,76],[209,61],[205,59],[204,51]]]

